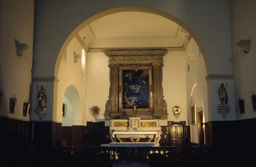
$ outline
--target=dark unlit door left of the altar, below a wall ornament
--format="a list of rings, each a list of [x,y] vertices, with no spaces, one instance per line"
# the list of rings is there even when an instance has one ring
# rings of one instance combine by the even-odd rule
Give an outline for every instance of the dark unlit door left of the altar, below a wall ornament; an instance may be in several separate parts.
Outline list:
[[[87,122],[88,146],[100,146],[104,143],[104,122]]]

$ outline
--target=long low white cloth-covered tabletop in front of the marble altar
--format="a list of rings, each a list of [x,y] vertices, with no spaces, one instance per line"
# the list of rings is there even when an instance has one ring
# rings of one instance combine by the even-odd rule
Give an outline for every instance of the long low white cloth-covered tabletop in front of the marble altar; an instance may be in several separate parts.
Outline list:
[[[148,143],[148,142],[125,142],[125,143],[109,143],[109,144],[102,144],[101,147],[156,147],[155,143]]]

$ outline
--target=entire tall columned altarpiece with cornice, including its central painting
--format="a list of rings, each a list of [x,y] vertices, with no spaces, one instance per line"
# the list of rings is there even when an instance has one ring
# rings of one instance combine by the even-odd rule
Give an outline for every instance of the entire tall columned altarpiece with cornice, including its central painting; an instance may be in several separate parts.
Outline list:
[[[105,119],[124,119],[135,114],[141,119],[167,119],[162,89],[163,56],[167,50],[104,52],[109,57],[110,68]]]

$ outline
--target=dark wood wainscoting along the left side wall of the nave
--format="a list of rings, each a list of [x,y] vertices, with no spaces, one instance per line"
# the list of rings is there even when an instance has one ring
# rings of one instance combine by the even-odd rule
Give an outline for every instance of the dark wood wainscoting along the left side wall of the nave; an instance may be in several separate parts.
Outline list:
[[[29,151],[30,139],[30,122],[0,117],[0,143],[4,153]]]

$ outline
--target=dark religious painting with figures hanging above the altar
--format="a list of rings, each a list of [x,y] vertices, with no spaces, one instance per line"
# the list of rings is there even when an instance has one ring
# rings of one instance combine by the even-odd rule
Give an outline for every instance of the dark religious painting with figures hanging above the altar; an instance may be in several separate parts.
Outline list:
[[[120,70],[120,73],[120,84],[123,87],[123,91],[120,92],[120,97],[122,97],[120,107],[125,111],[134,110],[134,106],[137,106],[137,111],[148,110],[151,107],[150,101],[152,101],[149,92],[149,85],[152,83],[151,71],[148,68],[137,70],[128,68]]]

